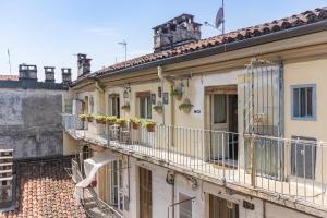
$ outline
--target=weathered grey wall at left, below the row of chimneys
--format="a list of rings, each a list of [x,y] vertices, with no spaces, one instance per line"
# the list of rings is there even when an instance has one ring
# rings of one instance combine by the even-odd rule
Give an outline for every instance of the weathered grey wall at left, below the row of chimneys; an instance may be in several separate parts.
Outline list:
[[[0,88],[0,148],[14,158],[62,155],[63,90]]]

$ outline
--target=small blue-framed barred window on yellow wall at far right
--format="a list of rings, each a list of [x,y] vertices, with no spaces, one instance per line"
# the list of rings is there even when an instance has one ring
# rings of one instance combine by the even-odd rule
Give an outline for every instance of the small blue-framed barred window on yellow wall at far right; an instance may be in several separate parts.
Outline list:
[[[295,85],[291,86],[292,119],[316,119],[316,86]]]

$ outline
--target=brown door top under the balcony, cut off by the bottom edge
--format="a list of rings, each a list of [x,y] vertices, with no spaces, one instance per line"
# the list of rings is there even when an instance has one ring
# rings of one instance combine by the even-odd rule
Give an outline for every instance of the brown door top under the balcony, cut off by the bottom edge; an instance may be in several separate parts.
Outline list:
[[[209,218],[239,218],[239,205],[209,195]]]

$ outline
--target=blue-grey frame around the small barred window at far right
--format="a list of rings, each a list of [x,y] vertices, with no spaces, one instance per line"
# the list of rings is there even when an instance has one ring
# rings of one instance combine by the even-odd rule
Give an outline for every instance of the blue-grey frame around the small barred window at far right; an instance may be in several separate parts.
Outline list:
[[[301,88],[312,88],[312,116],[294,116],[294,90]],[[304,121],[316,121],[317,119],[317,86],[316,84],[301,84],[291,85],[291,119],[292,120],[304,120]]]

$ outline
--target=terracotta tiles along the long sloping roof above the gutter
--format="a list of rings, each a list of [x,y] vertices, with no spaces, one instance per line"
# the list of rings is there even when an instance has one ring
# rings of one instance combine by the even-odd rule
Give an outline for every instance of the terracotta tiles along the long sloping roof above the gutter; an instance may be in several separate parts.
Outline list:
[[[290,17],[275,20],[269,23],[264,23],[261,25],[255,25],[246,28],[241,28],[239,31],[233,31],[225,35],[218,35],[210,38],[201,39],[195,43],[190,43],[180,47],[174,48],[173,50],[166,50],[161,52],[149,53],[128,60],[125,62],[117,63],[107,68],[104,68],[99,71],[96,71],[92,74],[80,77],[74,83],[82,81],[86,77],[96,77],[104,74],[110,74],[116,71],[137,66],[144,63],[149,63],[153,61],[158,61],[162,59],[168,59],[172,57],[179,57],[185,53],[191,53],[202,49],[217,47],[223,44],[230,44],[233,41],[241,41],[249,38],[255,38],[263,35],[268,35],[276,32],[281,32],[302,25],[307,25],[312,23],[317,23],[320,21],[327,20],[327,7],[318,8],[312,11],[305,11],[300,14],[292,15]],[[74,84],[73,83],[73,84]]]

